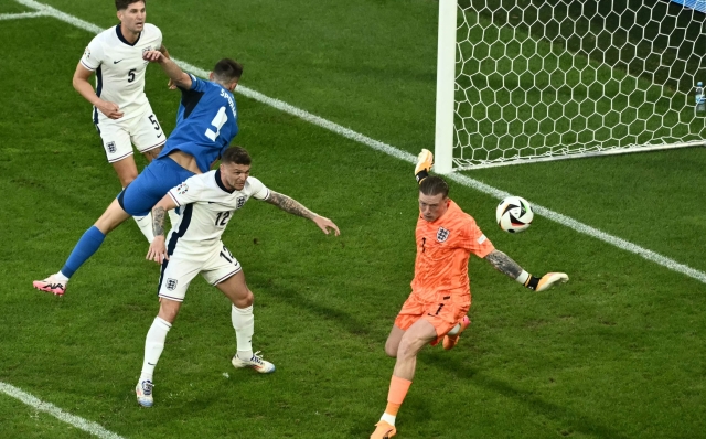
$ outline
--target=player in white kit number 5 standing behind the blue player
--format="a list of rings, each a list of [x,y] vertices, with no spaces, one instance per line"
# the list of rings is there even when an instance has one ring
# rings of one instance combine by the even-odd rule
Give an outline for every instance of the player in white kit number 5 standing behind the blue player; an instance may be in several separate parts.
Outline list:
[[[162,32],[145,22],[145,1],[116,0],[120,24],[96,35],[86,47],[74,73],[74,88],[93,106],[93,122],[100,135],[108,162],[126,188],[137,178],[132,144],[151,161],[165,137],[145,95],[147,61],[142,53],[159,50]],[[88,82],[96,76],[96,89]],[[175,220],[176,216],[172,216]],[[142,234],[152,239],[149,215],[136,216]]]

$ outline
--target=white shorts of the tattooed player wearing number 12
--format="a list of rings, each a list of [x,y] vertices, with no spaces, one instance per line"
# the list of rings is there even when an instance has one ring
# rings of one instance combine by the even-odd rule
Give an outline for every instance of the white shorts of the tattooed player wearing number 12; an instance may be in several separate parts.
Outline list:
[[[162,264],[158,296],[182,302],[189,285],[201,274],[206,282],[215,286],[243,268],[222,242],[215,250],[204,256],[179,254],[170,256]]]

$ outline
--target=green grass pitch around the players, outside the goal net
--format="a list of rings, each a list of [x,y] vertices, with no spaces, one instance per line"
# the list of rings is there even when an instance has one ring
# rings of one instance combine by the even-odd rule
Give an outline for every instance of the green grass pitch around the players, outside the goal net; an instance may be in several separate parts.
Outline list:
[[[47,4],[116,22],[113,2]],[[417,153],[434,143],[437,8],[174,0],[148,2],[148,21],[180,60],[208,69],[237,58],[243,85]],[[256,295],[254,347],[277,365],[269,376],[233,370],[227,300],[195,280],[156,371],[156,405],[138,407],[159,270],[132,223],[66,297],[31,288],[119,191],[71,86],[90,38],[49,17],[0,21],[0,382],[125,438],[368,437],[394,365],[383,345],[413,277],[409,163],[236,95],[253,175],[342,232],[257,201],[231,222],[224,242]],[[147,93],[169,132],[179,95],[157,67]],[[689,149],[467,174],[706,271],[705,168],[704,149]],[[473,324],[456,350],[419,355],[397,437],[704,436],[706,285],[541,216],[504,234],[498,200],[459,184],[450,195],[528,271],[571,280],[534,293],[472,258]],[[0,394],[0,437],[89,435]]]

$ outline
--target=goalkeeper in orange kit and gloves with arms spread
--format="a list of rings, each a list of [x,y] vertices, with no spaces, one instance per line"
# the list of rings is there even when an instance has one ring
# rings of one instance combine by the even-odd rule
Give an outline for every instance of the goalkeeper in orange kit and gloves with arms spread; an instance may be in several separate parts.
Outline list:
[[[471,307],[468,277],[471,254],[535,291],[545,291],[569,279],[564,272],[534,277],[496,250],[475,220],[448,197],[446,181],[429,175],[431,164],[431,152],[421,150],[415,169],[419,183],[415,278],[411,293],[397,314],[385,343],[385,353],[397,361],[389,384],[387,408],[371,439],[396,435],[395,418],[411,385],[417,353],[427,344],[436,345],[441,340],[443,349],[452,349],[470,324],[467,313]]]

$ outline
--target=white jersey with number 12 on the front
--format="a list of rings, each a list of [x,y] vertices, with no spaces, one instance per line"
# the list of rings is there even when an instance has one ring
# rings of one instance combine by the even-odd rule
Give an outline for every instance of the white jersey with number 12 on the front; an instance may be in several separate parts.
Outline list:
[[[181,206],[180,222],[167,237],[167,254],[203,255],[221,244],[221,235],[231,217],[250,196],[267,200],[269,189],[248,176],[240,191],[228,191],[221,182],[221,171],[210,171],[186,179],[169,195]]]

